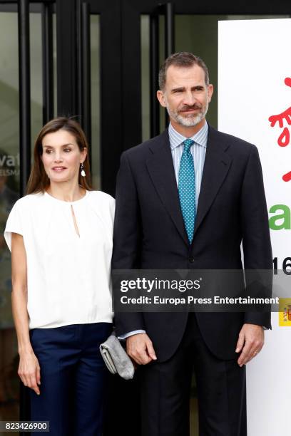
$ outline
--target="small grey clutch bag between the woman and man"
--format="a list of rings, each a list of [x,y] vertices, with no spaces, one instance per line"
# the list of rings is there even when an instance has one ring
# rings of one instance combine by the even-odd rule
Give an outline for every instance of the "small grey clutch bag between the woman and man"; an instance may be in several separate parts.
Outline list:
[[[134,375],[134,366],[131,359],[123,350],[121,343],[113,333],[107,341],[101,343],[100,352],[103,360],[112,374],[119,374],[126,380],[131,380]]]

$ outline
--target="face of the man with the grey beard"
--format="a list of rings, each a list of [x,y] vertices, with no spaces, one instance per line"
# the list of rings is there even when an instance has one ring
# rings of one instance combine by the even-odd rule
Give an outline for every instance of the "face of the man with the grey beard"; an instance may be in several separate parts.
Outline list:
[[[193,127],[204,123],[213,95],[213,85],[206,85],[203,68],[170,66],[166,74],[165,89],[157,93],[160,105],[167,108],[175,125]]]

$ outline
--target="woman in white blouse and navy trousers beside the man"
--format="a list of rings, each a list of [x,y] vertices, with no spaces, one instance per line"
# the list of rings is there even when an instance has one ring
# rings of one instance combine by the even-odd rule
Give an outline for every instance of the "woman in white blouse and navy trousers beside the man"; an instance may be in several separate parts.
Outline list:
[[[114,199],[91,190],[81,127],[56,118],[34,147],[27,195],[6,223],[19,375],[31,420],[51,436],[102,433],[106,368],[99,345],[112,329]]]

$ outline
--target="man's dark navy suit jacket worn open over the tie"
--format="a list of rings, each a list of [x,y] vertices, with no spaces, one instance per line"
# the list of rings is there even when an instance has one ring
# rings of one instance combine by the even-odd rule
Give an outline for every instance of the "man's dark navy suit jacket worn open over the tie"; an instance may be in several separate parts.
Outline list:
[[[257,148],[209,127],[193,243],[180,212],[168,130],[123,152],[116,185],[113,269],[272,269]],[[236,358],[243,323],[270,327],[270,313],[197,313],[216,356]],[[118,335],[144,329],[158,360],[170,358],[188,313],[116,313]]]

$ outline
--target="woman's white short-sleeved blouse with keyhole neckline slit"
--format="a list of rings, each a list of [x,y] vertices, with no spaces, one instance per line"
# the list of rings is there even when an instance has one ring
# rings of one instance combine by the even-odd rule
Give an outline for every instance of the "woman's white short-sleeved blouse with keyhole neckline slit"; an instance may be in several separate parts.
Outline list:
[[[4,237],[10,250],[12,232],[24,238],[29,328],[112,322],[114,207],[101,191],[76,202],[29,194],[14,204]]]

